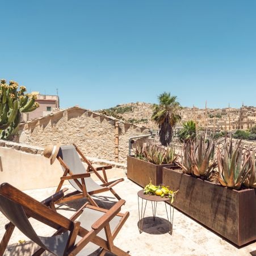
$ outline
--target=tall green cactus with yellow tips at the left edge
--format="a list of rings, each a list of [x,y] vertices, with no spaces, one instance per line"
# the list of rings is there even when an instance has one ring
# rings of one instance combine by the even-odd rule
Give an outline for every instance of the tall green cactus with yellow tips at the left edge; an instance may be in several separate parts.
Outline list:
[[[9,139],[18,130],[20,112],[31,112],[39,107],[36,95],[25,94],[26,87],[5,79],[0,80],[0,139]]]

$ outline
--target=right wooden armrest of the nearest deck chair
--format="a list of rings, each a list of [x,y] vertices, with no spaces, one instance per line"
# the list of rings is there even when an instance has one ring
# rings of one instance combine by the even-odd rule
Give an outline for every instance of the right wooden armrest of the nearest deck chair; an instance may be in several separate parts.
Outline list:
[[[125,200],[121,199],[114,206],[112,206],[104,215],[102,215],[95,223],[91,226],[92,229],[101,230],[106,224],[108,224],[116,215],[120,212],[121,206],[125,203]]]

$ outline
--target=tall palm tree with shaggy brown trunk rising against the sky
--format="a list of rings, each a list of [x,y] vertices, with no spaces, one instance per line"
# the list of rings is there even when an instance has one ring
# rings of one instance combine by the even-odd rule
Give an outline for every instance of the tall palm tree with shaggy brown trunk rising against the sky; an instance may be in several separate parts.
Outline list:
[[[167,146],[173,137],[173,127],[181,120],[178,114],[181,105],[176,101],[177,96],[170,93],[162,93],[158,96],[159,104],[153,105],[152,120],[156,121],[160,128],[160,141],[163,146]]]

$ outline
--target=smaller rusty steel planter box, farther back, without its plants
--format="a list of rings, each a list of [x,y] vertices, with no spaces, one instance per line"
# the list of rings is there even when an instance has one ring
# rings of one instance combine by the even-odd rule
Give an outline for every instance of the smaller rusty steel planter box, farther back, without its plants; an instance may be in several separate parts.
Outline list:
[[[136,182],[141,187],[145,187],[150,179],[152,184],[162,184],[162,169],[163,167],[175,166],[173,163],[165,165],[154,165],[135,157],[127,156],[127,178]]]

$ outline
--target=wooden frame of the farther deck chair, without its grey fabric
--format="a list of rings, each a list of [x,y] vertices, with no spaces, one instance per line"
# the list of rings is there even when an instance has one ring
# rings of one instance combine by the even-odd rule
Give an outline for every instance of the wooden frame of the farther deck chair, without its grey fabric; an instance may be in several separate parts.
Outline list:
[[[87,173],[73,174],[72,170],[69,169],[68,165],[66,165],[66,163],[62,160],[62,158],[60,156],[57,156],[57,160],[60,162],[61,166],[65,170],[64,170],[63,176],[60,178],[60,183],[58,184],[56,192],[60,191],[61,187],[64,184],[64,181],[69,180],[69,179],[73,179],[74,182],[77,184],[77,186],[80,188],[80,190],[82,192],[74,191],[69,194],[66,194],[63,198],[56,200],[55,203],[58,204],[58,203],[68,202],[70,200],[87,198],[89,200],[89,202],[91,203],[91,205],[98,206],[98,204],[96,204],[96,202],[91,197],[91,195],[99,194],[99,193],[105,192],[105,191],[112,192],[112,194],[115,196],[115,198],[117,200],[120,200],[121,199],[120,196],[116,193],[116,191],[112,187],[114,187],[117,183],[124,181],[124,178],[120,178],[120,179],[116,179],[115,181],[108,182],[106,170],[111,169],[112,166],[107,165],[107,166],[100,166],[100,167],[95,168],[91,164],[91,162],[89,160],[87,160],[87,158],[83,155],[81,150],[79,150],[75,144],[73,144],[73,146],[74,146],[75,150],[77,150],[77,153],[79,154],[79,156],[81,156],[82,160],[85,163],[87,163],[87,165],[88,165],[88,167],[86,169]],[[102,175],[99,174],[99,171],[102,171],[103,177],[102,177]],[[96,175],[96,177],[98,177],[99,180],[102,182],[102,184],[100,184],[100,186],[102,186],[102,188],[100,188],[99,190],[87,192],[86,185],[85,185],[85,178],[90,177],[91,173],[94,173]],[[81,179],[81,182],[79,182],[78,179]]]

